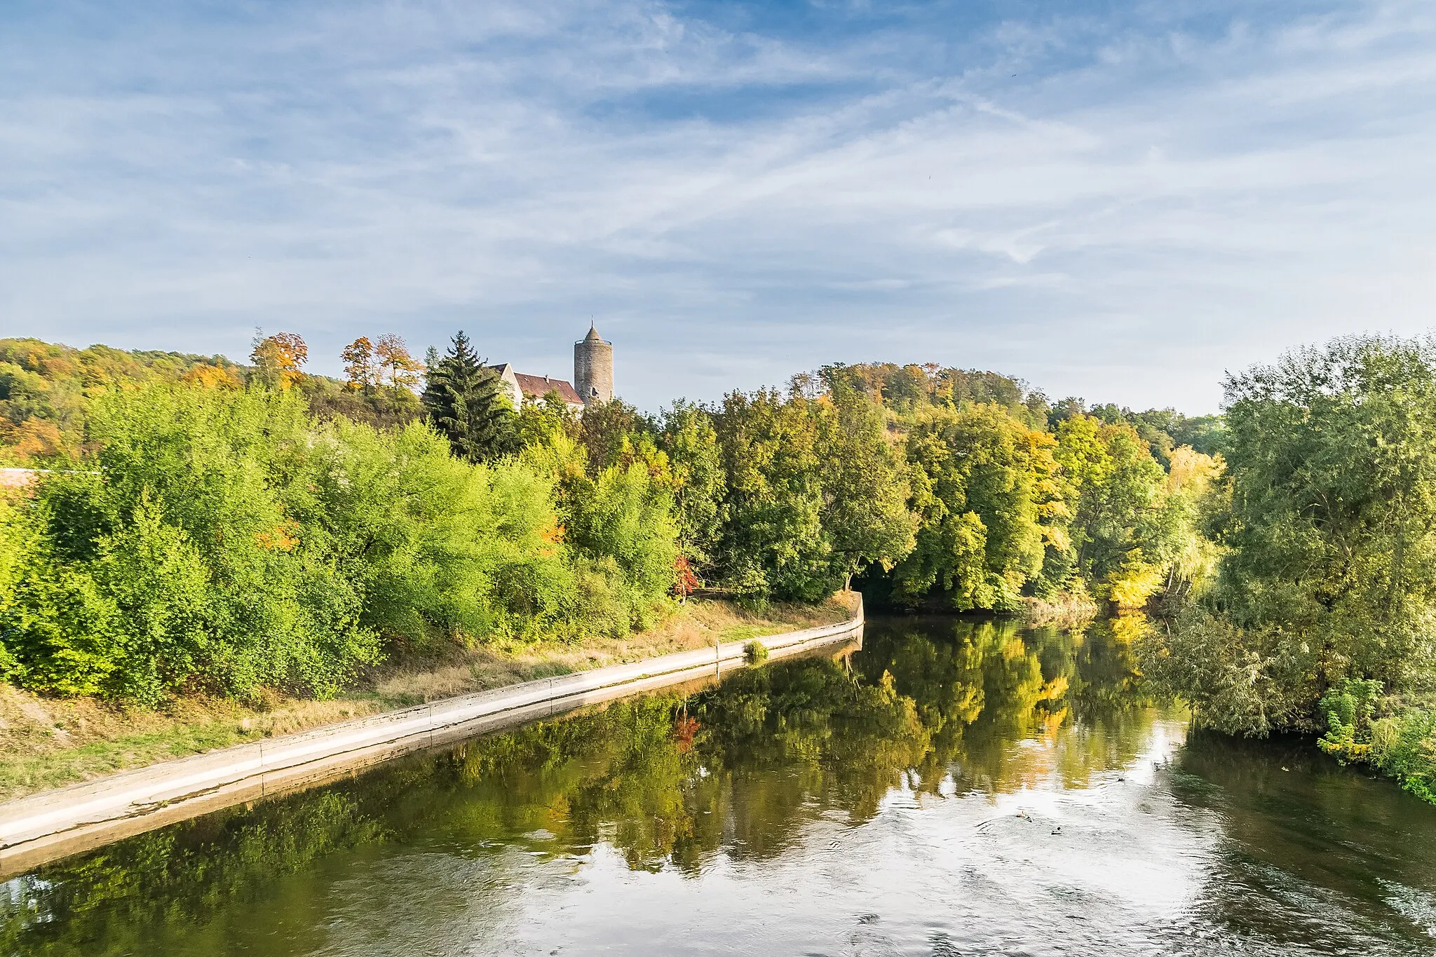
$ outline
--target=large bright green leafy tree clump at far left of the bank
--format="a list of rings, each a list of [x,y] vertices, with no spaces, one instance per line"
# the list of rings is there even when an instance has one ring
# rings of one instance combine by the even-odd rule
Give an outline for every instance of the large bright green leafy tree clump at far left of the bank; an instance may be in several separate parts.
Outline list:
[[[293,519],[309,419],[294,392],[101,396],[90,469],[36,486],[0,633],[37,690],[154,703],[180,687],[337,690],[379,656],[362,595]]]

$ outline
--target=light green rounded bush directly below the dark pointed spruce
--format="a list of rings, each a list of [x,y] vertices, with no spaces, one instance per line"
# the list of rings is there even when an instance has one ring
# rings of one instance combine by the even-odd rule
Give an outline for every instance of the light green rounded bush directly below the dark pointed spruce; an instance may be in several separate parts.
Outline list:
[[[471,465],[424,425],[337,420],[314,442],[302,524],[365,594],[363,623],[409,644],[434,633],[528,638],[563,618],[574,575],[553,541],[553,481]]]

